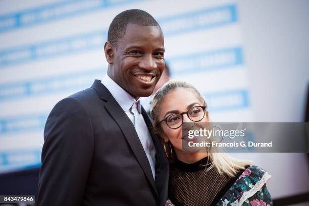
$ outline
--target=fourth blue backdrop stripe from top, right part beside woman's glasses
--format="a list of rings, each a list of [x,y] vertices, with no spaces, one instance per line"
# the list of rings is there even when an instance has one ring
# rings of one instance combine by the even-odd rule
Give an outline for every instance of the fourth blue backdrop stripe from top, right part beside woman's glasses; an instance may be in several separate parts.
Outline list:
[[[232,90],[205,94],[211,112],[233,111],[249,106],[247,90]],[[14,117],[2,117],[0,135],[38,131],[44,128],[47,114],[28,114]]]

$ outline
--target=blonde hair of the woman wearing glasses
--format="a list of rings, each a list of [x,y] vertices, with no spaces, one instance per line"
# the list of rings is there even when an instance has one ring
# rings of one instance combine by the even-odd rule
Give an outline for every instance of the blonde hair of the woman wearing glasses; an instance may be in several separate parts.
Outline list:
[[[157,93],[155,94],[150,103],[151,104],[150,115],[153,119],[153,127],[159,134],[160,132],[162,132],[162,128],[158,124],[161,102],[163,101],[163,99],[167,94],[169,94],[170,92],[174,91],[177,88],[185,88],[194,91],[197,98],[201,101],[202,106],[207,106],[205,98],[200,94],[200,92],[194,86],[185,81],[170,80],[169,82],[165,83],[161,89],[157,91]],[[221,175],[227,174],[231,177],[234,177],[239,170],[245,169],[245,166],[252,165],[251,161],[238,160],[236,158],[227,155],[224,152],[209,152],[209,158],[211,160],[211,163],[210,167],[208,167],[208,170],[215,167],[218,170],[219,174]]]

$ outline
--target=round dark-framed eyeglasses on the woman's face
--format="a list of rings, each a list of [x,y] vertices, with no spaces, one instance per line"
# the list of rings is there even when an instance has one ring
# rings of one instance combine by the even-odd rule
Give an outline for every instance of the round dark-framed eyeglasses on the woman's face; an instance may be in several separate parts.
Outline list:
[[[162,119],[158,124],[161,124],[161,122],[165,121],[166,124],[172,128],[172,129],[177,129],[179,128],[182,123],[183,123],[183,115],[187,114],[189,119],[192,121],[200,121],[202,118],[205,116],[205,109],[206,106],[195,106],[189,109],[186,112],[182,113],[173,113],[167,116],[165,119]]]

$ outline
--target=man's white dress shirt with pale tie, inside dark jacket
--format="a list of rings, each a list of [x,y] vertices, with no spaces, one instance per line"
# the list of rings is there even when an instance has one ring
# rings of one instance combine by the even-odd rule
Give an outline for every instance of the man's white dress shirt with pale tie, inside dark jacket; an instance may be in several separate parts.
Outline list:
[[[151,135],[147,128],[145,120],[140,113],[141,106],[140,106],[139,100],[135,100],[127,91],[122,89],[108,75],[104,76],[101,83],[110,91],[110,93],[113,95],[115,100],[118,102],[120,107],[128,115],[133,125],[135,126],[135,130],[137,132],[138,138],[140,140],[142,147],[144,148],[145,155],[150,164],[153,179],[155,179],[156,148],[155,148],[155,145],[153,145]],[[133,104],[135,104],[137,106],[137,109],[139,110],[139,114],[137,114],[138,118],[135,118],[132,112]],[[136,123],[135,119],[138,119],[138,125],[135,124]]]

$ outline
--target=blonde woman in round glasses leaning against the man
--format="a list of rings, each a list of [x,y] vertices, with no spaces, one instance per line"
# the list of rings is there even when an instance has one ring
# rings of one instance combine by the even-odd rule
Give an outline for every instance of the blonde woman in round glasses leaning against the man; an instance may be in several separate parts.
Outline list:
[[[183,122],[210,122],[207,103],[192,85],[166,83],[153,97],[150,114],[171,163],[166,205],[273,205],[266,187],[271,176],[250,161],[182,150],[188,141]]]

